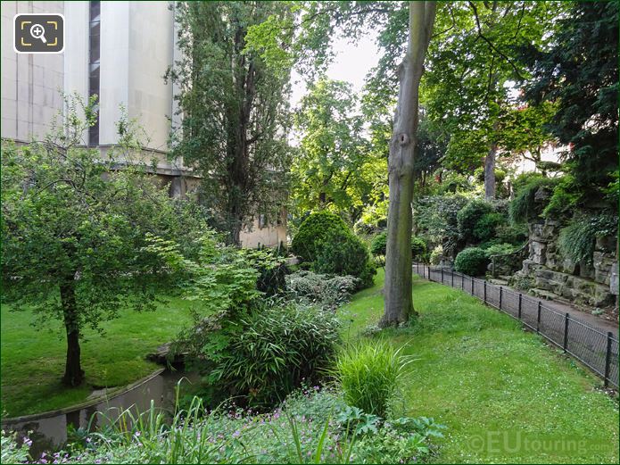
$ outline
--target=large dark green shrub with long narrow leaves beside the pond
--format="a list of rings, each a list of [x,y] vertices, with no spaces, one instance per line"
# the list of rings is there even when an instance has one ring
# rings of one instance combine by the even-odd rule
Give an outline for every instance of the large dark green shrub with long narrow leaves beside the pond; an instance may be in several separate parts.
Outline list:
[[[205,321],[206,323],[206,321]],[[211,319],[196,331],[211,402],[266,408],[325,374],[339,342],[333,311],[300,303],[258,303],[238,318]]]

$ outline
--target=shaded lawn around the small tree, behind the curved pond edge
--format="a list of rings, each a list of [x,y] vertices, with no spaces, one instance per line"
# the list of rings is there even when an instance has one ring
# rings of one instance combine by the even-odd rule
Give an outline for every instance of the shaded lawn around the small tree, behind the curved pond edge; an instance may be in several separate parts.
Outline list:
[[[93,389],[125,386],[156,370],[145,354],[169,342],[192,319],[190,303],[178,298],[156,311],[121,311],[103,323],[104,333],[84,331],[82,369],[86,383],[67,388],[61,383],[66,338],[59,320],[48,328],[33,328],[30,311],[10,311],[2,305],[2,411],[15,417],[67,407],[87,399]]]

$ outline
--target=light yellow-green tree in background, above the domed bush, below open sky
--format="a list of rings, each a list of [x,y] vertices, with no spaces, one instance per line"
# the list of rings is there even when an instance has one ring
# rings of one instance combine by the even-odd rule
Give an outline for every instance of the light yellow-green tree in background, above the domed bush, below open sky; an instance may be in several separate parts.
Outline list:
[[[310,84],[295,117],[300,150],[293,160],[295,210],[334,209],[358,219],[373,187],[373,157],[351,85],[319,79]]]

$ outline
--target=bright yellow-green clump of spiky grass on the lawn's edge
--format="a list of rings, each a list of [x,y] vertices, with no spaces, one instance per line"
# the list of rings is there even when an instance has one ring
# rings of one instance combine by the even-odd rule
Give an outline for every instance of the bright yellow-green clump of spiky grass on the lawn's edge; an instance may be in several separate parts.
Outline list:
[[[399,352],[378,341],[343,349],[335,364],[335,378],[343,388],[344,401],[385,418],[407,364]]]

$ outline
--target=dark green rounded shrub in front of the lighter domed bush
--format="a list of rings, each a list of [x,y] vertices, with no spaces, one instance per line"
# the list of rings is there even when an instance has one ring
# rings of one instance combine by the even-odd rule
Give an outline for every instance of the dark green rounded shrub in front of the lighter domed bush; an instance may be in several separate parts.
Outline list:
[[[316,243],[316,250],[313,268],[318,273],[354,276],[360,279],[359,289],[372,286],[376,267],[360,237],[349,231],[331,231]]]

